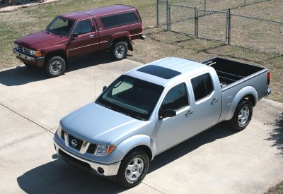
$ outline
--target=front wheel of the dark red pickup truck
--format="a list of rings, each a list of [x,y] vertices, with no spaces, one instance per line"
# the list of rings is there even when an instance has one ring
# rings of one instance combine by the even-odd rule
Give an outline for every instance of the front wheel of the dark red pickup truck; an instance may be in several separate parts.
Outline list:
[[[51,78],[62,75],[65,69],[66,62],[61,56],[53,56],[45,63],[45,73]]]

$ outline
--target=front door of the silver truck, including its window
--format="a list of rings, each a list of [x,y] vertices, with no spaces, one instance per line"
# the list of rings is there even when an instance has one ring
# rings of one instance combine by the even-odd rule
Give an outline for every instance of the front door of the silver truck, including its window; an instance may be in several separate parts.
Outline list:
[[[176,115],[156,119],[158,152],[172,147],[190,137],[194,128],[193,108],[187,95],[187,84],[180,83],[166,93],[158,112],[173,109]]]

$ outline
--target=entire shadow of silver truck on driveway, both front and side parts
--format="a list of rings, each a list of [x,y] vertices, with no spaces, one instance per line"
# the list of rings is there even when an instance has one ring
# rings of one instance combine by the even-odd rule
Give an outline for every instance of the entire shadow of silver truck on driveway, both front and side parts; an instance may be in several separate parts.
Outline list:
[[[173,162],[175,159],[192,152],[204,144],[225,138],[235,132],[229,130],[225,123],[220,123],[190,140],[159,154],[150,164],[149,173]],[[57,156],[56,154],[53,155]],[[115,181],[94,176],[62,159],[43,164],[31,169],[17,178],[18,185],[26,193],[120,193],[122,188]]]

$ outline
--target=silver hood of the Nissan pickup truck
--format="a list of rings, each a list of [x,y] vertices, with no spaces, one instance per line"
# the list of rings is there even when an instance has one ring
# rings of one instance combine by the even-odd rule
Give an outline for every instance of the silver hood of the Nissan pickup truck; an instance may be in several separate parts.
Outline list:
[[[109,144],[146,124],[92,102],[65,116],[60,124],[67,133],[91,143]]]

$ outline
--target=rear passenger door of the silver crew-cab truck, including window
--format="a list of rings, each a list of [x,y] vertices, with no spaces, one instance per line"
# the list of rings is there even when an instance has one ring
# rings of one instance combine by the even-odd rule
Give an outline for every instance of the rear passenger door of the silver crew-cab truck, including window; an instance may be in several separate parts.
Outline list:
[[[194,94],[195,133],[214,126],[221,114],[221,92],[210,73],[190,80]]]

